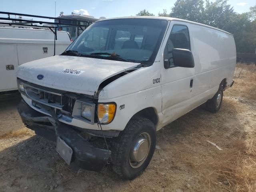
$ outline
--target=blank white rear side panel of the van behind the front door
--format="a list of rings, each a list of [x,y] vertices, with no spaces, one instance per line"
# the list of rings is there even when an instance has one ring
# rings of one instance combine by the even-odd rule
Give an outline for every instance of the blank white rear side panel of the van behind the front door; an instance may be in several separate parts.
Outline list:
[[[220,82],[232,83],[236,65],[236,46],[232,35],[199,26],[189,25],[191,51],[195,62],[194,90],[196,105],[212,98]]]

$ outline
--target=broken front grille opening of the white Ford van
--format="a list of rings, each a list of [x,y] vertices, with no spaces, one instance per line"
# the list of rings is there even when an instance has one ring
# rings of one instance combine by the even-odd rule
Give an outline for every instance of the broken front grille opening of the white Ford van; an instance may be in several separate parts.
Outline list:
[[[66,94],[66,92],[52,92],[34,86],[25,86],[25,91],[28,97],[38,103],[72,114],[76,99],[74,96]]]

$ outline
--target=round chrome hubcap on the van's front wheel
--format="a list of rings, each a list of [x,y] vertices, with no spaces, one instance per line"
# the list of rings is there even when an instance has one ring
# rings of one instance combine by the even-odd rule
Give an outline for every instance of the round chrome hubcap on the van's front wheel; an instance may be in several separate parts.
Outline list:
[[[130,151],[129,162],[132,168],[140,167],[148,156],[151,146],[150,135],[146,132],[140,134],[134,141]]]

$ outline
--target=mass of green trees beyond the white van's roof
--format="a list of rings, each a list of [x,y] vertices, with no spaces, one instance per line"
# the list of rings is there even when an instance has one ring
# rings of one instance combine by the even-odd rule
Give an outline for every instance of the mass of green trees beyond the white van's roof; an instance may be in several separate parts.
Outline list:
[[[237,52],[254,53],[256,47],[256,6],[238,14],[227,0],[176,0],[170,16],[195,21],[234,35]]]

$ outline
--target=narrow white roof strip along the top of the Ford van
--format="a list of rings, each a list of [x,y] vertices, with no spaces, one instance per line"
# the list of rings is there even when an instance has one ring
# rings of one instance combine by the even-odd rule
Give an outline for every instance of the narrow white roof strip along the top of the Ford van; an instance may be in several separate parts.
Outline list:
[[[221,29],[218,29],[218,28],[215,28],[215,27],[211,27],[211,26],[208,26],[208,25],[205,25],[205,24],[202,24],[202,23],[197,23],[197,22],[193,22],[193,21],[189,21],[189,20],[184,20],[184,19],[173,18],[173,17],[160,17],[160,16],[129,16],[129,17],[109,18],[109,19],[104,19],[104,20],[129,19],[129,18],[130,18],[130,19],[137,19],[137,18],[140,18],[140,19],[162,19],[162,20],[169,20],[169,21],[182,21],[182,22],[187,22],[187,23],[192,23],[192,24],[196,24],[196,25],[200,25],[200,26],[212,28],[212,29],[214,29],[214,30],[218,30],[218,31],[221,31],[221,32],[224,32],[224,33],[233,35],[233,34],[231,34],[231,33],[229,33],[229,32],[224,31],[224,30],[221,30]],[[96,21],[96,22],[101,22],[101,21],[104,21],[104,20],[98,20],[98,21]]]

